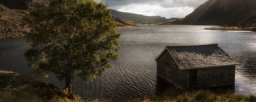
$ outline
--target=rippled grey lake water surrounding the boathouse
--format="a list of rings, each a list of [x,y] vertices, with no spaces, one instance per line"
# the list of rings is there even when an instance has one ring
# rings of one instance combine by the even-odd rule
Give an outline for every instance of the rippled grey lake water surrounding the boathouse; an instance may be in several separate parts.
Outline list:
[[[239,65],[236,66],[235,92],[256,93],[256,33],[211,31],[217,26],[156,26],[117,29],[120,39],[120,60],[108,69],[102,79],[84,83],[74,78],[73,92],[84,99],[131,99],[155,95],[157,89],[155,58],[165,46],[219,44]],[[24,52],[30,48],[24,38],[0,39],[0,69],[31,75]],[[37,79],[65,86],[53,74]]]

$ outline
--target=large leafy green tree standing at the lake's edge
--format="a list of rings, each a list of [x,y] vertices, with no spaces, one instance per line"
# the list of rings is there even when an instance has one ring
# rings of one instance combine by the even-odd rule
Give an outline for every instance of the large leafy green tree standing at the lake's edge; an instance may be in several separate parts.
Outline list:
[[[118,60],[120,33],[115,31],[107,5],[93,0],[53,0],[35,4],[23,18],[33,47],[25,56],[33,75],[55,73],[71,91],[74,76],[84,81],[102,77],[110,62]]]

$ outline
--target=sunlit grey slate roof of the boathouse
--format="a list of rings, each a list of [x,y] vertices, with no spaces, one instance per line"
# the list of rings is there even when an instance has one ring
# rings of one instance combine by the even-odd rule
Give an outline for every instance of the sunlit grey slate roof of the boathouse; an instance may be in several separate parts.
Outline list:
[[[237,65],[218,44],[167,46],[181,69]]]

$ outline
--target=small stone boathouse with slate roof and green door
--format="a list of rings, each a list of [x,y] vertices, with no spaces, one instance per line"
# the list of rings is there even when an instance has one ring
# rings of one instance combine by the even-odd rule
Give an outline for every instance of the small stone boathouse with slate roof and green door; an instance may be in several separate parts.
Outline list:
[[[156,58],[157,76],[179,88],[234,85],[234,61],[218,44],[167,46]]]

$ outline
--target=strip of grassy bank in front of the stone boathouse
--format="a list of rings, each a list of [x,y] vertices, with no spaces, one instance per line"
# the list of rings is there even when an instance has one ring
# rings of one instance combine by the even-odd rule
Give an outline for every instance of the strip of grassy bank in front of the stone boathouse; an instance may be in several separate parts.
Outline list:
[[[143,102],[256,102],[256,96],[234,94],[233,90],[218,92],[210,89],[169,88],[162,95],[146,98]]]

